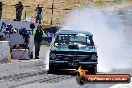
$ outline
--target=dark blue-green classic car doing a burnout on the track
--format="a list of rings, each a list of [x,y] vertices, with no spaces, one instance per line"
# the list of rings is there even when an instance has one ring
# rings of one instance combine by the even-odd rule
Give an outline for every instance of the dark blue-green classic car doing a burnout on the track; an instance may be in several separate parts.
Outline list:
[[[89,73],[97,73],[97,50],[90,32],[59,30],[51,44],[49,71],[78,69],[82,66]]]

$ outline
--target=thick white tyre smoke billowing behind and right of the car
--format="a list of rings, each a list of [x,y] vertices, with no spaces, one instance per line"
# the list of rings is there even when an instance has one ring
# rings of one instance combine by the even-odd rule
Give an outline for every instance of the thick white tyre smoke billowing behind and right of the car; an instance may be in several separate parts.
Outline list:
[[[130,68],[132,64],[132,47],[124,33],[119,17],[110,22],[108,15],[97,8],[75,9],[65,19],[62,29],[89,31],[98,51],[98,70],[107,72],[112,69]],[[116,23],[116,24],[115,24]],[[111,25],[110,25],[111,24]]]

